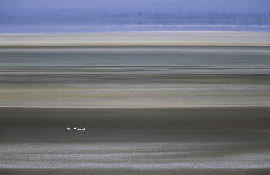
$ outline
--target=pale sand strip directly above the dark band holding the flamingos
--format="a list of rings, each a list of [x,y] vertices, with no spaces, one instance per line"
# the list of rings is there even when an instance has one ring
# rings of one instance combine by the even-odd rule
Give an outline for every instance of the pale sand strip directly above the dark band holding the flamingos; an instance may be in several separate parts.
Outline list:
[[[0,107],[160,108],[268,106],[270,97],[160,97],[0,100]]]

